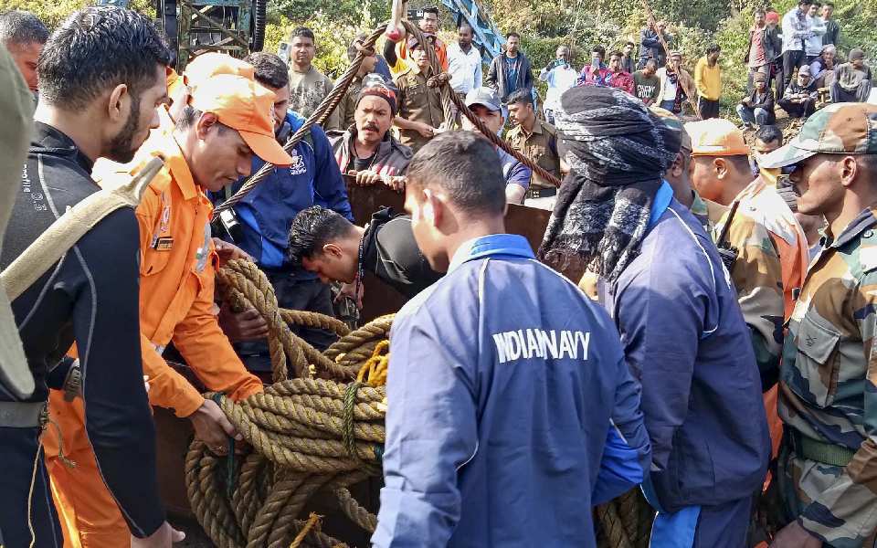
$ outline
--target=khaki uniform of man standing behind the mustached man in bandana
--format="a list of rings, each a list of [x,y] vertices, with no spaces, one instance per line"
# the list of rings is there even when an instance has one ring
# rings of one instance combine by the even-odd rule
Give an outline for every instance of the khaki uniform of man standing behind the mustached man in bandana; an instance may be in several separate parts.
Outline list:
[[[431,69],[427,70],[431,72]],[[438,128],[445,121],[445,111],[441,105],[439,88],[429,88],[428,78],[429,76],[417,67],[408,68],[396,76],[396,87],[399,89],[396,94],[398,116],[407,121],[422,121],[433,128]],[[415,130],[399,130],[399,142],[411,147],[411,150],[417,153],[429,142],[429,138]]]

